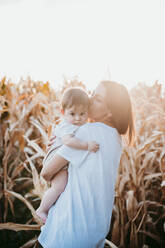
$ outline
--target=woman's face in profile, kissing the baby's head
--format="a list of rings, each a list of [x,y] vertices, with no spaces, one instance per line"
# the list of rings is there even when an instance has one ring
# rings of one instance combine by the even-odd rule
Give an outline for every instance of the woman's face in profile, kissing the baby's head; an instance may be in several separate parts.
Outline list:
[[[91,96],[89,118],[103,122],[108,114],[110,114],[110,110],[106,103],[106,89],[99,84]]]

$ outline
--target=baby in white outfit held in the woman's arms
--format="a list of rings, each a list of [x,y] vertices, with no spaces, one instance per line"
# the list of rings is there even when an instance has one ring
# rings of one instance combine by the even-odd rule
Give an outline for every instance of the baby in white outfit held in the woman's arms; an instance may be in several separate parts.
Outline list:
[[[89,97],[79,88],[69,88],[63,94],[61,101],[62,121],[55,128],[56,139],[43,160],[43,166],[52,159],[61,145],[74,149],[97,152],[99,144],[95,141],[84,142],[75,137],[77,129],[88,119]],[[68,180],[67,167],[60,170],[51,180],[51,187],[45,192],[36,213],[45,222],[50,207],[64,191]]]

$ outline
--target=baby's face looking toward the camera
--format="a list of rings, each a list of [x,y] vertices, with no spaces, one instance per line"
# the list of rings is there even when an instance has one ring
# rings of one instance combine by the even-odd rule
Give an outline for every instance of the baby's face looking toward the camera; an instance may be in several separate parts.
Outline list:
[[[85,124],[88,119],[88,109],[82,105],[66,108],[64,111],[64,119],[73,125],[81,126]]]

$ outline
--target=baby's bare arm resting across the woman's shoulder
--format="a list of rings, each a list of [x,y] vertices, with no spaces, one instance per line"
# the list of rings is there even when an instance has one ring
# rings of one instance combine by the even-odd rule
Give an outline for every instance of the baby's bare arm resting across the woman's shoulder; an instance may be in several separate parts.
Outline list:
[[[67,134],[62,137],[62,143],[66,146],[79,150],[87,150],[90,152],[97,152],[99,144],[95,141],[85,142],[74,136],[74,134]]]

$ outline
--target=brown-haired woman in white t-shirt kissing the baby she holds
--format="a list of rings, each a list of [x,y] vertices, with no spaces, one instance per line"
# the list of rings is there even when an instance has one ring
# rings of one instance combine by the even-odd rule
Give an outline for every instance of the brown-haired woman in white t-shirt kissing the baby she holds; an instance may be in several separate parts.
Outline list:
[[[91,98],[94,123],[81,126],[76,137],[95,140],[97,153],[59,149],[41,175],[50,180],[69,162],[65,191],[49,210],[39,242],[44,248],[102,248],[109,231],[114,187],[122,152],[121,135],[133,137],[130,97],[116,82],[103,81]]]

